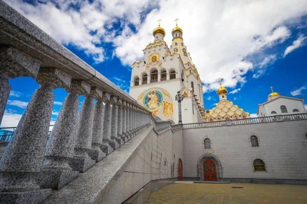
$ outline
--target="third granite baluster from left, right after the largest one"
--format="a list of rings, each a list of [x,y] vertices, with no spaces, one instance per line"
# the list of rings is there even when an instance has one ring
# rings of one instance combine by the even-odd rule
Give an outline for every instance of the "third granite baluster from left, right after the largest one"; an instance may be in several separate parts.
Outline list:
[[[59,115],[47,141],[45,162],[41,172],[41,187],[58,189],[74,180],[79,172],[69,166],[73,157],[77,130],[78,96],[90,94],[91,85],[82,80],[72,80],[67,89]]]

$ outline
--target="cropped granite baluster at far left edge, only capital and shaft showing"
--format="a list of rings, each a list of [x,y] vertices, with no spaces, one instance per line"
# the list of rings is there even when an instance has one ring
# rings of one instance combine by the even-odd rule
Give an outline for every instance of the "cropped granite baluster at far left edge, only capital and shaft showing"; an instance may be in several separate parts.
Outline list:
[[[35,78],[40,61],[12,47],[0,47],[0,124],[4,115],[11,86],[9,79],[17,77]]]

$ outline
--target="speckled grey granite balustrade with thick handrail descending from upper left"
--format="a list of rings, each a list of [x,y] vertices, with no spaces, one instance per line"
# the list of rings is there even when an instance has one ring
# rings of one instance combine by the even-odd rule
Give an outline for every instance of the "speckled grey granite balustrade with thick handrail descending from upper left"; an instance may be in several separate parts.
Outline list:
[[[42,201],[150,125],[147,109],[2,0],[0,39],[0,122],[9,79],[40,86],[0,161],[1,202]],[[48,139],[55,88],[68,96]]]

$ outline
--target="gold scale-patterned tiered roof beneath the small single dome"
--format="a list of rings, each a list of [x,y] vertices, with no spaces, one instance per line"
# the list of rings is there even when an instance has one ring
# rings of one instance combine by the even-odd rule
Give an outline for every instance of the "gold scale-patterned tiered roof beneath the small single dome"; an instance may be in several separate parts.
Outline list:
[[[207,121],[216,120],[234,120],[240,118],[249,118],[249,113],[244,112],[243,109],[238,108],[237,105],[233,105],[233,103],[229,100],[221,100],[216,104],[216,107],[212,109],[209,113],[205,114],[205,118]]]

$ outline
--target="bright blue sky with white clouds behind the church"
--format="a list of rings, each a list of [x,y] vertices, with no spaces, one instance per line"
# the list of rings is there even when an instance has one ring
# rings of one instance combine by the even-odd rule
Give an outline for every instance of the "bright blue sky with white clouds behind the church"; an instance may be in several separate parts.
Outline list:
[[[204,106],[217,103],[217,78],[228,99],[254,114],[270,86],[283,96],[307,95],[307,1],[5,0],[120,88],[129,91],[130,64],[143,59],[157,20],[170,46],[173,19],[204,83]],[[178,12],[181,11],[181,12]],[[32,93],[32,78],[9,81],[11,94],[1,126],[15,126]],[[25,86],[26,85],[26,86]],[[233,92],[233,93],[232,93]],[[52,123],[67,93],[54,90]],[[80,101],[83,97],[80,96]],[[305,103],[306,104],[306,103]]]

